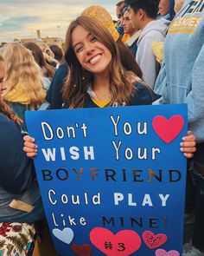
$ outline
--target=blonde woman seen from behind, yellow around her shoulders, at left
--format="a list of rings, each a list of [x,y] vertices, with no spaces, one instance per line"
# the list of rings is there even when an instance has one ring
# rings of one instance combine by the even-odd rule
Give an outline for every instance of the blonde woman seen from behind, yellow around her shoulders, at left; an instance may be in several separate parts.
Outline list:
[[[5,60],[4,81],[7,89],[3,98],[22,119],[22,130],[26,131],[25,111],[41,106],[46,91],[42,89],[44,79],[41,69],[29,49],[20,43],[9,43],[3,51]]]

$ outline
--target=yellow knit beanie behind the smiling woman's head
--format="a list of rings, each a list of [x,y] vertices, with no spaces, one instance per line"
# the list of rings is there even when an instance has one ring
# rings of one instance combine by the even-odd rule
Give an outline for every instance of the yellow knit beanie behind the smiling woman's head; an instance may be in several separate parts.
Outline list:
[[[116,30],[115,25],[112,21],[112,16],[105,10],[105,8],[99,5],[91,5],[81,13],[83,16],[91,16],[96,19],[99,23],[102,23],[105,28],[112,34],[115,42],[119,38],[118,30]]]

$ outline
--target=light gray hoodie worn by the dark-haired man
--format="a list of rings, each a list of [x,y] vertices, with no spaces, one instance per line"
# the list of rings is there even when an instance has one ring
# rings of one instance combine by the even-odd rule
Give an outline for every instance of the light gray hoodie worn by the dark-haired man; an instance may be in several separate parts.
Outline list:
[[[160,68],[152,51],[152,43],[155,41],[163,42],[169,23],[165,19],[151,21],[143,28],[137,42],[136,61],[143,71],[143,81],[150,85],[152,89]]]

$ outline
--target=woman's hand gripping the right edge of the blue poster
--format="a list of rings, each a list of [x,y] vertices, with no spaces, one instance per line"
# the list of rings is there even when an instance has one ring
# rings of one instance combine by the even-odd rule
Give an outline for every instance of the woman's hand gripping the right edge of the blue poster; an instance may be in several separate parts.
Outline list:
[[[194,152],[196,151],[196,137],[191,131],[188,131],[188,135],[182,137],[182,142],[180,143],[180,150],[187,158],[192,158]]]

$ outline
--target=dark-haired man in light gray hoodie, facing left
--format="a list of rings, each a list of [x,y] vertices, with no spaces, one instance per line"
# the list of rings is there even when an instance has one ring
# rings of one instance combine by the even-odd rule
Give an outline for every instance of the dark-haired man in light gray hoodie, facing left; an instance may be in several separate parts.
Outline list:
[[[131,23],[137,30],[142,30],[137,41],[136,61],[142,69],[143,81],[154,89],[160,64],[153,54],[152,43],[154,41],[163,42],[169,21],[156,20],[158,13],[157,0],[125,0],[125,3],[128,6]]]

